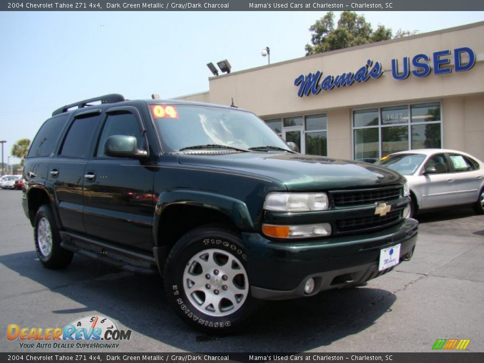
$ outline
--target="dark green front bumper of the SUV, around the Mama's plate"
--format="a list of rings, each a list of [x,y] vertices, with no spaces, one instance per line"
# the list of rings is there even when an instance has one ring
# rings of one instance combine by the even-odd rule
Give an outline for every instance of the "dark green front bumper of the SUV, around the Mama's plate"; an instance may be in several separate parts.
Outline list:
[[[243,233],[252,295],[266,300],[314,295],[332,288],[357,285],[393,268],[378,271],[380,251],[401,244],[400,262],[415,248],[418,222],[402,223],[379,232],[305,241],[273,241],[258,233]],[[313,277],[312,293],[304,292]]]

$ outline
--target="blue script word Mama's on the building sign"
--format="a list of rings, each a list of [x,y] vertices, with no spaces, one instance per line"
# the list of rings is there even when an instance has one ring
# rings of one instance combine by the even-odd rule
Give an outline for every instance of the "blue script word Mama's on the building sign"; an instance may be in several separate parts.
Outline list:
[[[294,86],[299,86],[297,95],[302,97],[309,96],[310,93],[317,95],[321,90],[328,91],[335,87],[351,86],[354,82],[364,83],[370,77],[378,78],[383,74],[380,62],[376,62],[373,67],[372,65],[373,61],[368,59],[367,64],[355,73],[343,73],[336,77],[329,75],[321,83],[321,76],[323,75],[321,71],[316,72],[314,75],[312,73],[309,73],[307,76],[301,74],[294,80]]]

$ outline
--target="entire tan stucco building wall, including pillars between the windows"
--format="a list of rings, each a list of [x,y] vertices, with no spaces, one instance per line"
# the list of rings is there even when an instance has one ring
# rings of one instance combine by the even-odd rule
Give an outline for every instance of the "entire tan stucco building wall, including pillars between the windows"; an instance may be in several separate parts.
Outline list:
[[[352,158],[351,112],[353,109],[407,105],[426,101],[442,102],[443,147],[469,152],[484,160],[484,22],[438,32],[367,44],[291,61],[234,72],[210,78],[210,91],[180,99],[211,103],[234,103],[268,119],[325,112],[328,116],[328,153],[334,157]],[[474,67],[466,72],[435,75],[433,52],[449,49],[451,65],[454,49],[471,48],[476,55]],[[425,78],[410,74],[395,80],[391,60],[400,64],[427,54],[432,73]],[[298,97],[294,80],[316,71],[324,77],[356,72],[367,59],[380,62],[385,73],[365,83],[321,91],[318,95]],[[444,66],[447,67],[447,66]]]

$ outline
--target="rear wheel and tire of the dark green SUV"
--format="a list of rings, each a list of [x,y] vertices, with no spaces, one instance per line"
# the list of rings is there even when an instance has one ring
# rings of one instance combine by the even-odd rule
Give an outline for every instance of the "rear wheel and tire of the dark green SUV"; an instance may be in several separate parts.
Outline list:
[[[41,206],[35,215],[34,244],[40,262],[47,268],[63,268],[72,261],[73,253],[61,247],[55,219],[46,205]]]

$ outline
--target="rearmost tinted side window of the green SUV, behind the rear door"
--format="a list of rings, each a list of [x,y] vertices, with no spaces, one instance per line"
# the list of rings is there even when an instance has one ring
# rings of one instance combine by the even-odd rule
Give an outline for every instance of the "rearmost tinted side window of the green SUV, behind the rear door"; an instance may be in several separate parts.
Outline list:
[[[49,118],[40,127],[40,130],[32,142],[27,157],[49,156],[52,153],[55,141],[66,125],[68,118],[69,115],[67,114]]]

